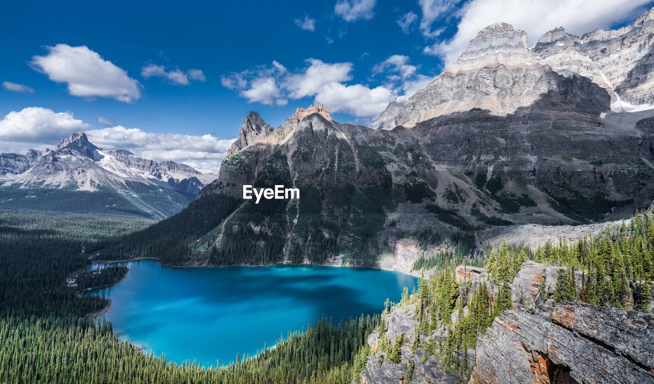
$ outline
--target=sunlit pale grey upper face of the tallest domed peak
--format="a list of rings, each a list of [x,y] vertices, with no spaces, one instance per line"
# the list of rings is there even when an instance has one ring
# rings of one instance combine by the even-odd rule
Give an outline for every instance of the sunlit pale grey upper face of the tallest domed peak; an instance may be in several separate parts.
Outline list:
[[[533,105],[543,95],[566,92],[565,87],[559,73],[532,57],[525,31],[493,24],[479,31],[468,49],[434,81],[402,105],[389,105],[373,128],[412,128],[471,109],[505,116]]]

